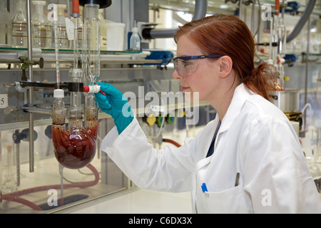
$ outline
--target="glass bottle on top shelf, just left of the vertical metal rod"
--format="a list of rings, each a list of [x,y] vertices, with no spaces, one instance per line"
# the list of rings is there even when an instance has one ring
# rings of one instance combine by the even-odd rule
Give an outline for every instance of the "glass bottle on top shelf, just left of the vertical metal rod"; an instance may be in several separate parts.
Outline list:
[[[27,46],[26,1],[16,0],[16,13],[12,21],[11,45],[15,48]]]

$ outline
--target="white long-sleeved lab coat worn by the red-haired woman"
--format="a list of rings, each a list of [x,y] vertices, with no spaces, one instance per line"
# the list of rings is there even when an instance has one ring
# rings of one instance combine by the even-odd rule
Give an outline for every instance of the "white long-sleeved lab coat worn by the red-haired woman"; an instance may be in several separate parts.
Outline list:
[[[156,150],[136,118],[101,148],[141,188],[190,191],[197,213],[321,213],[321,199],[286,116],[243,84],[235,89],[215,140],[218,116],[181,147]],[[240,183],[235,187],[235,177]],[[205,183],[208,192],[203,192]]]

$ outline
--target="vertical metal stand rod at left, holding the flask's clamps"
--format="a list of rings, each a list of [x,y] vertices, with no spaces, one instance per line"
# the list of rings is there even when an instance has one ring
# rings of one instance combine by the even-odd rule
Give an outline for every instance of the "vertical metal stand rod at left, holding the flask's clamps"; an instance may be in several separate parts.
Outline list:
[[[32,59],[32,36],[31,36],[31,1],[26,0],[26,16],[28,31],[28,59]],[[30,81],[34,81],[32,66],[28,68]],[[28,90],[28,103],[34,103],[34,88]],[[34,113],[29,113],[29,172],[34,172]]]

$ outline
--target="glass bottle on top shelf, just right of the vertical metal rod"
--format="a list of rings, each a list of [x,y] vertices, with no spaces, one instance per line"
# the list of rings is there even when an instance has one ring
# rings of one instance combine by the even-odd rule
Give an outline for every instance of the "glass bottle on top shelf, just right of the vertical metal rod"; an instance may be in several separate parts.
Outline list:
[[[32,1],[35,6],[35,14],[32,17],[34,28],[34,47],[51,48],[51,36],[53,33],[51,23],[44,15],[46,1]]]

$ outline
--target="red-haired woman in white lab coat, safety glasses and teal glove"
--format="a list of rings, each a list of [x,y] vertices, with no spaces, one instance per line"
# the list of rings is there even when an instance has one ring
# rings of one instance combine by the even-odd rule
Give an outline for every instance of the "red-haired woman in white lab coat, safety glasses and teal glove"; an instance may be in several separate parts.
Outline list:
[[[270,68],[254,67],[255,42],[235,16],[179,28],[173,78],[217,110],[181,147],[156,150],[121,92],[100,83],[100,108],[115,120],[101,148],[138,187],[190,191],[196,213],[320,213],[320,195],[287,117],[270,103]],[[272,85],[274,86],[274,85]],[[193,98],[192,98],[193,99]],[[124,109],[124,110],[125,110]]]

